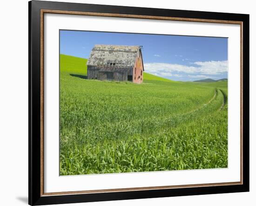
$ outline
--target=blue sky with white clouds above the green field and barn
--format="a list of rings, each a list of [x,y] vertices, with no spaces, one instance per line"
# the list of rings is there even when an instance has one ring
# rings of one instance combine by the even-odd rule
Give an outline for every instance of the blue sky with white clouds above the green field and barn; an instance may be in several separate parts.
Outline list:
[[[60,31],[61,54],[89,58],[96,44],[142,45],[145,71],[175,81],[228,77],[227,38]]]

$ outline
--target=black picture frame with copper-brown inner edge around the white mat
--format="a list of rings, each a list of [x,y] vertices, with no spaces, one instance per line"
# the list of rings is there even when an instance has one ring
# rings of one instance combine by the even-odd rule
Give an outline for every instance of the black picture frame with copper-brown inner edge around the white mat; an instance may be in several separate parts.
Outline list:
[[[214,193],[249,192],[249,15],[129,6],[107,6],[32,0],[29,10],[29,128],[28,128],[28,203],[29,205],[66,204],[92,201],[129,200]],[[44,15],[111,17],[167,20],[190,23],[217,23],[240,26],[240,181],[170,186],[129,187],[45,193],[44,134]],[[65,29],[65,28],[62,28]],[[58,80],[56,80],[58,81]],[[56,149],[56,152],[58,149]]]

